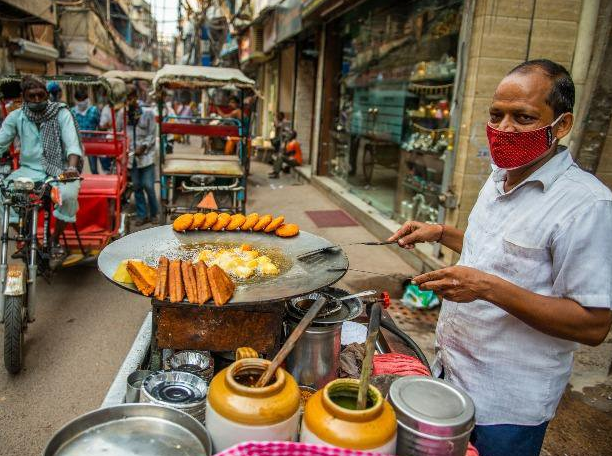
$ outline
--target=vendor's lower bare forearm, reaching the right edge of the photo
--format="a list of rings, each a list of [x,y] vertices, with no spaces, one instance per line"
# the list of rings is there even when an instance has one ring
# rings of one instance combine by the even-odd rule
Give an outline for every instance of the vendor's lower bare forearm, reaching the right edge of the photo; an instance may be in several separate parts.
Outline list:
[[[549,336],[599,345],[610,330],[612,312],[586,308],[576,301],[533,293],[487,274],[482,298]]]

